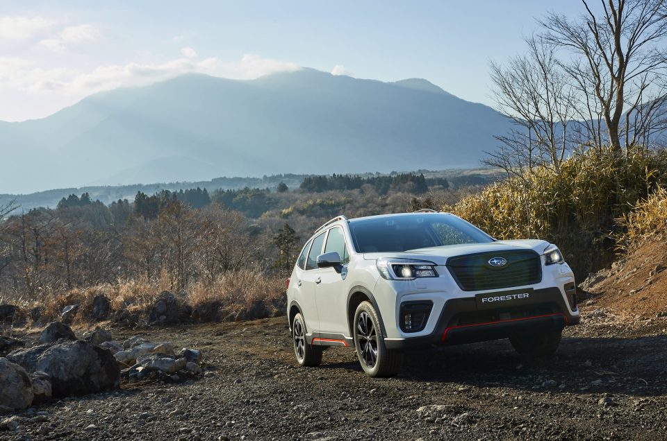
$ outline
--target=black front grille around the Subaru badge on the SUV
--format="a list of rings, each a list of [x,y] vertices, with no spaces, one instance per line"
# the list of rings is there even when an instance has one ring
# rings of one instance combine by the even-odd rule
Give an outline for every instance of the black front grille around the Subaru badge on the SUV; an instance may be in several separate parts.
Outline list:
[[[501,267],[491,266],[494,257],[507,260]],[[447,260],[447,269],[463,291],[511,288],[542,281],[542,260],[530,250],[506,250],[467,254]]]

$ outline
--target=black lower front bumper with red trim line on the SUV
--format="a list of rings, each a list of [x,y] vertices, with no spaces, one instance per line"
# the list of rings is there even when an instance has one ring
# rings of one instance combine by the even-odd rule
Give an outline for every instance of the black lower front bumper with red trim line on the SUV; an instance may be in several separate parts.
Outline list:
[[[513,293],[516,291],[494,292],[494,295]],[[539,302],[491,309],[479,309],[475,297],[450,299],[445,302],[431,334],[385,338],[384,343],[388,349],[456,345],[508,338],[511,334],[536,330],[558,331],[566,325],[579,323],[579,315],[570,313],[559,288],[536,289],[534,294]]]

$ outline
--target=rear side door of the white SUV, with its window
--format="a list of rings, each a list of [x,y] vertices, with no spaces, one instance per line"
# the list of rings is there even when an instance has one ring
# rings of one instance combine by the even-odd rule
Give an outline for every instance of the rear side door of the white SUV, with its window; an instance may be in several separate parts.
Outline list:
[[[320,329],[318,306],[315,302],[315,286],[320,277],[321,270],[318,268],[318,256],[322,254],[325,234],[326,232],[323,232],[311,241],[311,248],[308,250],[304,268],[297,268],[297,280],[290,282],[297,284],[298,302],[306,321],[306,332],[308,334],[318,332]]]

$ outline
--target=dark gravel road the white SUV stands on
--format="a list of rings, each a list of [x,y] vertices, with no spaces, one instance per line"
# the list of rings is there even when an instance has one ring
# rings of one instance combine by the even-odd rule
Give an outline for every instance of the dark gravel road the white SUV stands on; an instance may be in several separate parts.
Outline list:
[[[588,316],[550,360],[502,340],[440,347],[409,354],[393,379],[365,377],[344,348],[297,367],[284,318],[117,329],[201,349],[206,374],[53,400],[0,439],[667,439],[667,320]]]

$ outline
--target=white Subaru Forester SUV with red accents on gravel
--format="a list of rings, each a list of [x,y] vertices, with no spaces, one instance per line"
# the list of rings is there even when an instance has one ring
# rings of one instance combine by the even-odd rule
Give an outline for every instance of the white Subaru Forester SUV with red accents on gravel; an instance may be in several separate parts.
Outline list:
[[[453,214],[422,210],[322,225],[288,279],[300,365],[352,346],[366,374],[394,375],[404,349],[509,338],[553,354],[579,323],[575,277],[555,245],[497,241]]]

